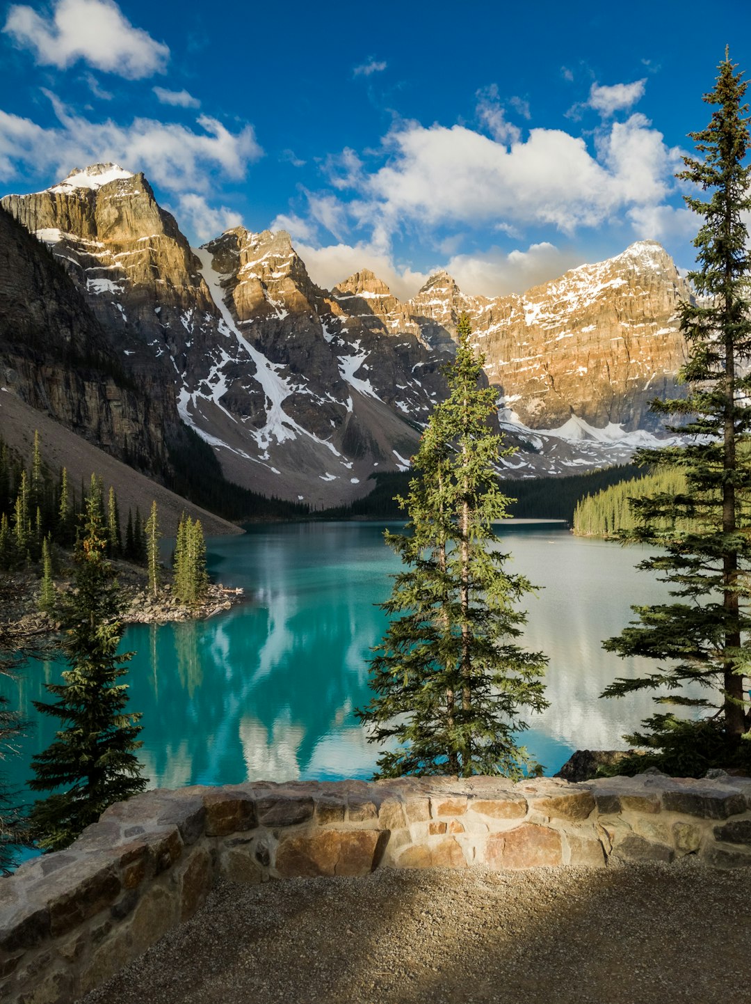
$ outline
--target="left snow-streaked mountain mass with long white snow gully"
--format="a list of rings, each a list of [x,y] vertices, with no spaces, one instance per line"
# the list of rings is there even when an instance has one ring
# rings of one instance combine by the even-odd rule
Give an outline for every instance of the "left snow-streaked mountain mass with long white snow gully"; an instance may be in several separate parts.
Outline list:
[[[146,394],[232,480],[314,505],[403,467],[445,393],[440,353],[315,286],[285,233],[192,250],[142,175],[76,169],[3,206],[45,242]]]

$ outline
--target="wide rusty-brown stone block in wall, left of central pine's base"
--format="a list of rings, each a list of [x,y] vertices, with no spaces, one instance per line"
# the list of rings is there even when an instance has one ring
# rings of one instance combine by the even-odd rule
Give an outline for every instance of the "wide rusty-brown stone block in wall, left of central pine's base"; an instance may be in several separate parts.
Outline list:
[[[388,832],[372,829],[289,836],[277,849],[277,871],[283,878],[368,874],[377,867],[388,837]]]

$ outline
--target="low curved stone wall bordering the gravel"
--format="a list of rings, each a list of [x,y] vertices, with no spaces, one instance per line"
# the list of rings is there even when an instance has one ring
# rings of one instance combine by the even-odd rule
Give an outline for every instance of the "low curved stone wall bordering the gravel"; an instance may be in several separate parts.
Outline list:
[[[0,1000],[69,1004],[191,917],[223,875],[377,867],[751,865],[751,779],[409,778],[156,790],[0,881]]]

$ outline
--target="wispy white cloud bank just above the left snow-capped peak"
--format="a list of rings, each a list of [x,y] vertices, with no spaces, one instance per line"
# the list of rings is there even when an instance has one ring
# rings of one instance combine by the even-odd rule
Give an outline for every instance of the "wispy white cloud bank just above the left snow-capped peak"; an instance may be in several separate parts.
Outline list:
[[[197,130],[152,118],[135,118],[128,126],[109,118],[95,122],[45,93],[55,109],[56,127],[42,128],[0,111],[0,178],[14,178],[21,169],[63,177],[74,165],[114,161],[145,172],[167,191],[207,192],[213,173],[242,179],[248,164],[263,155],[252,126],[231,133],[209,115],[198,117]]]

